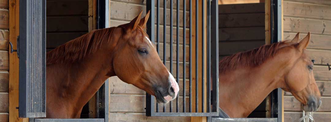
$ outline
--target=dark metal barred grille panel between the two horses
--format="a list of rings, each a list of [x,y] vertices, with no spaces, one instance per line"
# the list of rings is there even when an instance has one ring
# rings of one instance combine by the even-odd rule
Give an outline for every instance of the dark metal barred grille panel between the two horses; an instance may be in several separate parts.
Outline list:
[[[160,8],[160,2],[163,2],[163,63],[166,65],[166,52],[169,51],[169,71],[172,74],[173,73],[173,62],[176,63],[176,80],[179,84],[179,69],[180,69],[180,60],[179,60],[179,45],[180,42],[182,41],[183,45],[183,66],[181,67],[183,69],[182,72],[182,89],[183,93],[182,98],[179,97],[179,94],[174,100],[176,109],[173,110],[173,102],[171,101],[169,106],[167,105],[159,105],[158,103],[155,104],[155,97],[151,96],[149,94],[146,95],[146,115],[147,116],[218,116],[218,1],[217,0],[207,0],[207,5],[205,5],[205,2],[202,2],[202,5],[199,5],[199,1],[195,0],[189,0],[189,5],[186,5],[186,0],[176,0],[176,14],[173,12],[173,0],[170,0],[170,13],[169,13],[169,28],[170,28],[170,36],[166,36],[166,26],[167,26],[167,2],[166,0],[160,1],[156,0],[156,3],[154,0],[147,2],[147,11],[150,11],[151,16],[148,20],[147,23],[147,34],[149,35],[150,39],[152,40],[153,43],[156,43],[157,45],[157,51],[160,52],[160,11],[162,10]],[[201,7],[202,10],[202,16],[206,16],[205,12],[207,11],[207,30],[205,28],[199,29],[199,16],[196,15],[195,18],[192,18],[192,2],[196,2],[195,6],[195,12],[199,13],[199,7]],[[179,9],[180,5],[183,5],[182,11]],[[206,7],[207,8],[206,8]],[[186,15],[187,11],[186,9],[189,8],[189,16]],[[155,12],[156,11],[156,12]],[[176,42],[174,43],[173,39],[173,28],[174,28],[174,21],[173,21],[173,15],[176,15]],[[180,18],[179,16],[183,16],[182,24],[180,23]],[[154,18],[156,16],[156,20]],[[189,27],[186,27],[186,18],[189,18]],[[192,23],[192,19],[195,19],[196,22]],[[155,29],[155,23],[156,23],[156,29]],[[205,26],[205,19],[202,19],[200,24],[202,24],[202,27]],[[182,25],[182,28],[184,29],[182,33],[179,32],[180,25]],[[213,25],[213,27],[212,27]],[[192,26],[195,26],[196,30],[195,32],[192,32]],[[189,44],[186,44],[186,29],[189,29]],[[199,37],[199,31],[203,32],[202,36]],[[156,35],[155,33],[156,32]],[[192,42],[192,33],[195,33],[195,42]],[[180,40],[179,35],[183,35],[183,39]],[[207,38],[205,39],[205,34],[207,34]],[[155,40],[156,36],[156,40]],[[169,40],[169,46],[170,49],[166,50],[166,44],[167,40]],[[198,40],[202,40],[199,42]],[[192,50],[192,44],[195,43],[195,48]],[[207,44],[205,49],[205,43]],[[175,49],[176,51],[176,61],[173,61],[173,45],[176,44]],[[199,46],[201,45],[201,46]],[[188,46],[188,47],[186,47]],[[200,48],[201,49],[200,49]],[[188,77],[186,73],[186,48],[189,49],[189,62],[188,62]],[[207,51],[207,55],[205,55],[205,50]],[[198,58],[199,52],[201,51],[201,59]],[[195,59],[192,59],[192,53],[195,53]],[[205,57],[207,58],[207,62],[205,62]],[[192,60],[195,60],[195,64],[192,63]],[[195,65],[195,69],[192,68],[192,65]],[[207,65],[207,70],[205,70],[204,66]],[[203,68],[199,70],[199,66],[202,66]],[[213,67],[212,67],[213,66]],[[195,70],[195,81],[192,80],[192,70]],[[199,80],[199,76],[201,74],[201,80]],[[205,75],[207,77],[205,77]],[[189,80],[189,89],[186,89],[186,79],[188,78]],[[205,79],[207,80],[207,83],[205,84]],[[213,79],[213,80],[212,80]],[[196,96],[192,96],[192,81],[195,83],[195,94]],[[201,82],[201,89],[199,89],[199,82]],[[207,85],[207,89],[205,89],[205,85]],[[213,87],[212,87],[213,86]],[[185,91],[189,91],[189,96],[188,96],[188,111],[186,111],[186,93]],[[205,99],[202,99],[201,101],[199,100],[199,92],[202,92],[202,98],[207,97],[207,101]],[[207,96],[205,96],[205,93],[207,92]],[[192,98],[195,97],[195,111],[192,111]],[[180,105],[180,99],[182,99],[182,105]],[[199,104],[201,102],[201,104]],[[207,102],[207,104],[206,104]],[[213,104],[212,104],[213,103]],[[206,112],[199,112],[199,105],[201,107],[201,111],[206,111]],[[204,105],[207,105],[205,107]],[[213,105],[213,106],[212,106]],[[159,110],[159,107],[163,106],[163,110]],[[167,111],[167,107],[169,107],[169,111]],[[179,107],[182,107],[182,110],[179,109]]]

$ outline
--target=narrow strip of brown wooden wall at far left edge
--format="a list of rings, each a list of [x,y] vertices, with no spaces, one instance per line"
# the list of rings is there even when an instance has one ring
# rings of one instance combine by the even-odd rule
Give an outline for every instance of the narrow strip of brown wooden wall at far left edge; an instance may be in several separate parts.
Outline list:
[[[8,122],[9,112],[9,11],[8,0],[0,0],[0,122]]]

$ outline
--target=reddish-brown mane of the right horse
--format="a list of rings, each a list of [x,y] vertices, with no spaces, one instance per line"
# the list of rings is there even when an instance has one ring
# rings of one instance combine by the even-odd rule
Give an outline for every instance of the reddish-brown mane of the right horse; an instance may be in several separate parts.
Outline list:
[[[287,45],[285,45],[287,44]],[[263,45],[258,48],[239,52],[230,56],[226,56],[219,61],[218,70],[220,74],[226,71],[233,70],[238,66],[256,67],[263,64],[267,59],[275,56],[278,50],[284,46],[291,45],[288,41],[273,43],[271,45]]]

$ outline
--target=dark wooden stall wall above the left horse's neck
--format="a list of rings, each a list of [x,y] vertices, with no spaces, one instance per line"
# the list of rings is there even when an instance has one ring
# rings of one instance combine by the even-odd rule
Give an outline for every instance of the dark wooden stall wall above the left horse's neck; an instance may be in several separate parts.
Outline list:
[[[51,50],[88,32],[88,0],[46,1],[46,48]]]

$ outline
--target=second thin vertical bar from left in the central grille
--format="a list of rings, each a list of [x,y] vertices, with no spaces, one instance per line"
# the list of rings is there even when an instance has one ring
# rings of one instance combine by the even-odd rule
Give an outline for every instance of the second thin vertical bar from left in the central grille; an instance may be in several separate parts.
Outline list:
[[[166,66],[166,0],[163,0],[163,64]],[[163,105],[163,112],[166,112],[166,104]]]

